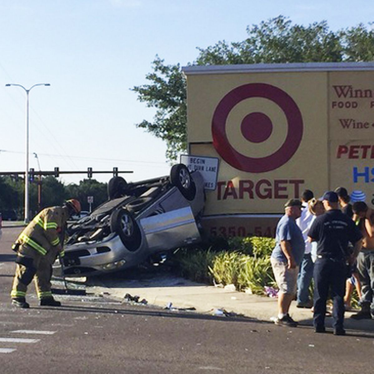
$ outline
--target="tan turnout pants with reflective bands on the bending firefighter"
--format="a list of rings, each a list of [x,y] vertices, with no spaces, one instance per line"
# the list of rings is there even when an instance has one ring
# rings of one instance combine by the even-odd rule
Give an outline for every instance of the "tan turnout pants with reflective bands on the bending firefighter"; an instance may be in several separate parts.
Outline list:
[[[32,248],[20,246],[10,296],[12,298],[25,297],[27,286],[34,279],[38,298],[52,297],[50,278],[52,277],[52,264],[57,255],[57,247],[53,247],[46,255],[42,255]]]

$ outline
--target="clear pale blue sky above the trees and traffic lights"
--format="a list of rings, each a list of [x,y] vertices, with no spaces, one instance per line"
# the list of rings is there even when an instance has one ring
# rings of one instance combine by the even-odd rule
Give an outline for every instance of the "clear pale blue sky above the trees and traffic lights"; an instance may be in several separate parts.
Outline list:
[[[154,111],[130,91],[156,54],[186,65],[197,46],[241,41],[280,14],[335,31],[374,21],[373,10],[367,0],[0,0],[0,171],[25,167],[25,92],[6,83],[51,85],[30,92],[31,168],[36,153],[42,170],[117,166],[141,180],[169,173],[165,144],[134,125]]]

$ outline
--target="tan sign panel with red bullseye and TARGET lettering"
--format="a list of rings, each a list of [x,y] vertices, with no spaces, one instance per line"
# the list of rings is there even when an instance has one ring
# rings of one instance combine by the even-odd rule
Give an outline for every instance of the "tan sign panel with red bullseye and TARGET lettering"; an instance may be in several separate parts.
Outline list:
[[[328,73],[187,75],[190,154],[218,157],[205,215],[266,214],[329,186]]]

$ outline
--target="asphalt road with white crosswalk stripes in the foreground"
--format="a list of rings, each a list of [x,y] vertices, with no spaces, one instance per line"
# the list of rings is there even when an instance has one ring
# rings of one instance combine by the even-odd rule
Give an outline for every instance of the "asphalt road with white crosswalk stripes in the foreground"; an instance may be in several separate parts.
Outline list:
[[[0,240],[1,373],[373,373],[372,332],[314,334],[95,296],[39,307],[33,286],[30,309],[12,307],[19,230]]]

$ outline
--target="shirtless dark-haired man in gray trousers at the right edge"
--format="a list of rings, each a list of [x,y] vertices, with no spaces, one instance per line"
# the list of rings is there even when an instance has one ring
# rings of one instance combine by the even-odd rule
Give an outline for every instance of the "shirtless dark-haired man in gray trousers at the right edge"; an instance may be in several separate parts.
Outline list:
[[[354,319],[374,319],[374,212],[362,201],[353,204],[353,221],[361,230],[364,239],[357,257],[357,268],[361,281],[361,310]]]

